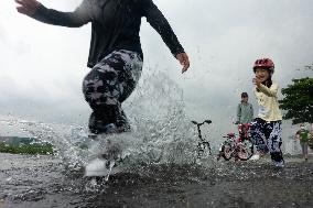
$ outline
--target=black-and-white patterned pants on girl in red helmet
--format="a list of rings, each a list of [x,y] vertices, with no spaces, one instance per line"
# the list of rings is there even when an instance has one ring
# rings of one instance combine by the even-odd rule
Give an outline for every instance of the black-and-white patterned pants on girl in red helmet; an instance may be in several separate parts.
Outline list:
[[[263,153],[270,152],[274,162],[283,161],[281,152],[281,121],[267,122],[262,119],[255,119],[250,127],[250,134],[257,150]]]

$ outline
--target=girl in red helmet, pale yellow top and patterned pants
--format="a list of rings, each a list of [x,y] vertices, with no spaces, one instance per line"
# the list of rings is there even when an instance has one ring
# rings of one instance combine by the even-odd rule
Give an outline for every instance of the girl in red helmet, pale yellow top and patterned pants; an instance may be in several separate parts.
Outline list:
[[[283,166],[284,161],[281,152],[281,111],[278,103],[277,83],[272,81],[274,64],[269,58],[257,59],[253,66],[255,95],[259,103],[259,113],[251,123],[251,138],[255,141],[258,153],[252,160],[270,152],[276,166]],[[266,140],[263,140],[263,138]]]

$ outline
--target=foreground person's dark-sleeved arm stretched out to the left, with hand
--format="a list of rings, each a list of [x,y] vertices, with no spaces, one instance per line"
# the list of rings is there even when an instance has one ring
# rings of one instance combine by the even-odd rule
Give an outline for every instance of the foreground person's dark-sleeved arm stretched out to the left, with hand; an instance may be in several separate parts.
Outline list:
[[[69,28],[78,28],[91,21],[91,7],[89,0],[83,0],[80,6],[73,12],[60,12],[45,8],[36,0],[15,0],[20,6],[18,11],[37,21]]]

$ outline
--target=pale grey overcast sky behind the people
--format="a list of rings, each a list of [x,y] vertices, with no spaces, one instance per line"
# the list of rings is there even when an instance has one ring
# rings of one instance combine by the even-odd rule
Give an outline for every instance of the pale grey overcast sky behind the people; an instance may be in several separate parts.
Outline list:
[[[72,11],[80,0],[42,0]],[[274,79],[285,87],[313,64],[312,0],[154,0],[191,58],[181,67],[153,29],[142,21],[144,69],[166,74],[183,90],[186,113],[230,123],[241,91],[252,95],[252,63],[270,57]],[[0,114],[47,122],[84,122],[90,112],[82,94],[90,24],[46,25],[0,1]],[[150,69],[149,69],[150,68]],[[144,76],[143,76],[144,77]],[[158,79],[158,77],[155,77]],[[162,80],[160,80],[162,83]],[[227,127],[226,127],[227,129]]]

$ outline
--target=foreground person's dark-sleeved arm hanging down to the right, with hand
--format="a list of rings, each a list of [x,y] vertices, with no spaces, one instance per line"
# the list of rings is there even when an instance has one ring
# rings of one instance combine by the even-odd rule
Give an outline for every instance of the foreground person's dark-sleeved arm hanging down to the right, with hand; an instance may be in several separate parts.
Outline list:
[[[147,18],[147,21],[151,24],[151,26],[161,35],[162,40],[168,45],[174,57],[176,57],[184,66],[183,73],[187,70],[190,67],[188,56],[186,55],[183,46],[179,42],[177,36],[174,34],[165,17],[152,0],[142,0],[141,7],[143,17]]]

